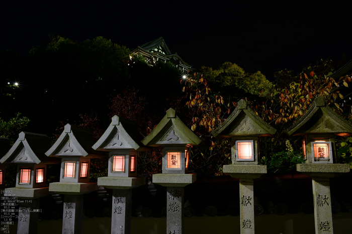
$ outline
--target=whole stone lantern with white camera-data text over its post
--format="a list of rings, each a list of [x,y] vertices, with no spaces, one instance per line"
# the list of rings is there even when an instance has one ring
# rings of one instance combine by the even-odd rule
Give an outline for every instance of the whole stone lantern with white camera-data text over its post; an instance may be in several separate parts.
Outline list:
[[[45,186],[47,164],[59,163],[48,159],[44,152],[50,148],[49,137],[42,134],[21,132],[0,163],[17,165],[16,187],[6,188],[5,196],[20,199],[17,233],[37,233],[39,199],[49,194]]]

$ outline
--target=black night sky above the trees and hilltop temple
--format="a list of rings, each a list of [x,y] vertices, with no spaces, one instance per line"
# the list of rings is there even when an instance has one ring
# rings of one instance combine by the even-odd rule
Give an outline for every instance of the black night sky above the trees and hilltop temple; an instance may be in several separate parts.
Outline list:
[[[309,3],[308,3],[309,2]],[[0,1],[0,50],[28,54],[49,33],[103,36],[133,49],[163,37],[195,68],[298,69],[352,56],[350,1]]]

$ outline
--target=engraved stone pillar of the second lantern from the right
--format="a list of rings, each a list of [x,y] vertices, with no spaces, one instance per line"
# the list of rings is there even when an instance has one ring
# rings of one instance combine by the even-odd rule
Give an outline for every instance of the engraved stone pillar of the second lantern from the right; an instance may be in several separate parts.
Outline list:
[[[253,179],[239,180],[241,234],[254,234]]]

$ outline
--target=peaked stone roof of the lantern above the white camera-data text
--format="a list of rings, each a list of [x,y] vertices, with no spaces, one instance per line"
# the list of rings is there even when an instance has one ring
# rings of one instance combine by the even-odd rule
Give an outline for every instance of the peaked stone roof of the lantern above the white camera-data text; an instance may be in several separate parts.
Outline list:
[[[46,157],[45,151],[51,147],[47,135],[30,132],[20,132],[15,144],[0,160],[0,163],[17,164],[54,164],[57,159]]]

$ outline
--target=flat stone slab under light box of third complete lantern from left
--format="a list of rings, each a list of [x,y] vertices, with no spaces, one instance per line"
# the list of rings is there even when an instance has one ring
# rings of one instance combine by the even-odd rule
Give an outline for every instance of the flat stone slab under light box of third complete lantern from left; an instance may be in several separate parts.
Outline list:
[[[99,177],[98,185],[109,189],[132,189],[145,185],[145,177]]]

